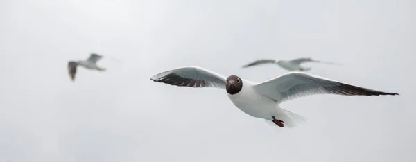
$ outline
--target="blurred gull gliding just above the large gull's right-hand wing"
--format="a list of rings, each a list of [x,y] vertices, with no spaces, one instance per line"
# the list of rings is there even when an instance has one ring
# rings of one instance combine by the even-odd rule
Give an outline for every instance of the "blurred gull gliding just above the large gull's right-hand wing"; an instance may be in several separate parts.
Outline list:
[[[267,60],[267,59],[257,60],[255,62],[250,63],[250,64],[246,64],[245,66],[243,66],[243,68],[250,67],[250,66],[257,66],[257,65],[260,65],[260,64],[277,64],[277,65],[281,66],[283,69],[286,69],[288,71],[309,71],[309,70],[311,70],[311,68],[309,68],[309,67],[300,66],[300,64],[302,64],[304,62],[320,62],[320,63],[323,63],[323,64],[335,64],[333,62],[322,62],[322,61],[318,61],[318,60],[313,60],[309,57],[304,57],[304,58],[297,58],[295,60]]]

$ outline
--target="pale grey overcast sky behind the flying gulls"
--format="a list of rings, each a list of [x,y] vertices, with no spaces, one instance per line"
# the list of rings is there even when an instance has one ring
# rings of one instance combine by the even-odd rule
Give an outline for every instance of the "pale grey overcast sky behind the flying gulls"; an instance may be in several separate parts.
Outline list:
[[[416,161],[415,1],[2,0],[0,162]],[[69,60],[96,52],[105,73]],[[180,66],[261,82],[260,58],[400,96],[309,96],[272,127],[221,89],[152,82]],[[112,58],[122,60],[116,62]]]

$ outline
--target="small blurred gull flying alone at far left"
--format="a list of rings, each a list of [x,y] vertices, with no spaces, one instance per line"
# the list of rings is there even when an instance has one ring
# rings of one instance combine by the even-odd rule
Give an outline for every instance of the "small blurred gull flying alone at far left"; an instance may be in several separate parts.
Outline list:
[[[96,70],[96,71],[105,71],[105,69],[98,67],[97,62],[101,60],[103,56],[97,55],[96,53],[91,53],[87,60],[80,61],[69,61],[68,62],[68,71],[71,76],[72,81],[75,80],[76,67],[78,65],[85,67],[86,69]]]

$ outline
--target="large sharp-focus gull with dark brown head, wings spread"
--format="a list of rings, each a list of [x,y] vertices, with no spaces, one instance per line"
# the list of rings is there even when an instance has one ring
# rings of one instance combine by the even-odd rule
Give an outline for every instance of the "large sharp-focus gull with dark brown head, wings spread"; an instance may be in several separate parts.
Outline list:
[[[182,67],[154,75],[150,80],[180,87],[216,87],[225,89],[228,98],[250,116],[266,119],[279,127],[295,127],[306,122],[303,116],[281,109],[286,100],[315,94],[344,96],[399,95],[356,87],[302,72],[291,72],[266,82],[254,83],[236,75],[228,78],[196,66]],[[184,98],[182,98],[184,99]],[[186,100],[186,99],[185,99]]]

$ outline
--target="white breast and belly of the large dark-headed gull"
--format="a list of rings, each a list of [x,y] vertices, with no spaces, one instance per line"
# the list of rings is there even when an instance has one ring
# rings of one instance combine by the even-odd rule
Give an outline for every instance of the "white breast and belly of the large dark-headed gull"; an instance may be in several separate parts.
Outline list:
[[[254,91],[252,84],[248,80],[243,80],[241,91],[234,95],[228,94],[228,97],[236,107],[246,114],[257,118],[269,118],[270,114],[277,109],[277,103]]]

